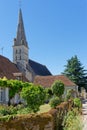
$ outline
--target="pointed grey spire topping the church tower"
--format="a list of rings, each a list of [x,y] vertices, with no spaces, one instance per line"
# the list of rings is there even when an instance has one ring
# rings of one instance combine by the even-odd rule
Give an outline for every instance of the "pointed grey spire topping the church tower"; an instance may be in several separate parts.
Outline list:
[[[22,11],[19,10],[19,21],[18,21],[18,28],[17,28],[17,37],[14,40],[15,45],[25,45],[28,47],[26,36],[25,36],[25,30],[24,30],[24,24],[23,24],[23,18],[22,18]]]

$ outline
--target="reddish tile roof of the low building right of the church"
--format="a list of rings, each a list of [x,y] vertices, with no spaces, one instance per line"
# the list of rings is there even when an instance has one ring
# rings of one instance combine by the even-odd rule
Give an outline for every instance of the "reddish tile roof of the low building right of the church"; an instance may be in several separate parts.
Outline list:
[[[74,84],[71,80],[69,80],[66,76],[64,75],[56,75],[56,76],[36,76],[34,83],[37,85],[42,85],[44,87],[50,87],[54,81],[56,80],[61,80],[65,86],[77,86]]]

